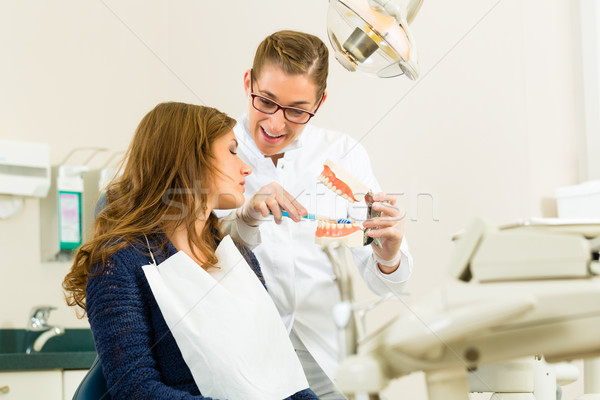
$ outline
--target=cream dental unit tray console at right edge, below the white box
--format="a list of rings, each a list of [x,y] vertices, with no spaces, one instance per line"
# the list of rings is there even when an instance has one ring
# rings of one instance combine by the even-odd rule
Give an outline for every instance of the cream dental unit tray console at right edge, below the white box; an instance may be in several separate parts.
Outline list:
[[[599,251],[597,219],[532,218],[497,229],[480,221],[458,237],[450,270],[464,281],[581,279],[600,275]]]

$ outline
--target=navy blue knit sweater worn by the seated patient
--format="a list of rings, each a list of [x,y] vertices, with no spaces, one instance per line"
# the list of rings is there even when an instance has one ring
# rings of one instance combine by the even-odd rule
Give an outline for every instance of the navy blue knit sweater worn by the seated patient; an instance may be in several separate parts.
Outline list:
[[[150,244],[163,238],[150,238]],[[254,254],[237,246],[264,285]],[[164,252],[155,249],[157,264],[177,253],[168,241]],[[96,276],[101,266],[95,265],[87,284],[88,319],[110,395],[113,399],[210,400],[198,390],[152,295],[142,270],[150,263],[145,245],[129,245],[115,253]],[[289,399],[317,396],[307,389]]]

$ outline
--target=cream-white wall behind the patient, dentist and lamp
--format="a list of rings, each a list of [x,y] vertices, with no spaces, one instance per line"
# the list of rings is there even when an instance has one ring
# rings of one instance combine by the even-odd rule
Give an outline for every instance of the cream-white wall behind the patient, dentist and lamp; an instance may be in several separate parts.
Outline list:
[[[450,237],[472,218],[554,216],[554,189],[577,183],[571,3],[426,0],[413,25],[417,82],[351,74],[332,58],[314,121],[359,139],[382,187],[403,194],[416,262],[406,304],[444,283]],[[74,147],[124,149],[161,101],[237,116],[258,42],[283,28],[326,40],[326,10],[325,0],[1,2],[0,138],[48,142],[57,164]],[[69,265],[40,262],[38,203],[0,220],[0,327],[24,327],[46,303],[59,306],[51,321],[84,326],[62,299]],[[418,400],[424,390],[414,374],[388,393]]]

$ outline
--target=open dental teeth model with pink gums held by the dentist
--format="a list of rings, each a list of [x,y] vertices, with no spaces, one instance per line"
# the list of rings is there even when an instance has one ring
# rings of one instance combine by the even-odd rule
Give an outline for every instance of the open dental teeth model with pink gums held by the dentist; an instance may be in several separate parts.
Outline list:
[[[348,171],[327,159],[323,164],[323,172],[319,181],[350,202],[361,201],[369,188],[354,178]],[[326,245],[338,242],[347,247],[362,247],[365,244],[365,233],[360,224],[350,220],[319,219],[315,232],[315,243]]]

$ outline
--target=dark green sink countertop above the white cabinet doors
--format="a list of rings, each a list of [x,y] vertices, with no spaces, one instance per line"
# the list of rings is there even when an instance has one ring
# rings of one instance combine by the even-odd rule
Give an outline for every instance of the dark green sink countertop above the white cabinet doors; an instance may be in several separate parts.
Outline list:
[[[25,354],[29,343],[41,332],[0,329],[0,371],[33,369],[87,369],[96,358],[89,329],[65,329],[64,335],[48,340],[39,353]]]

